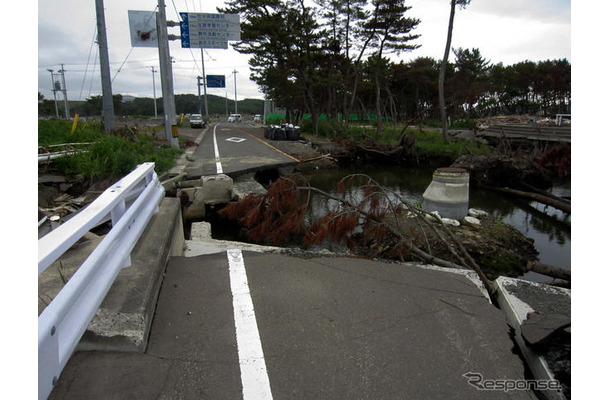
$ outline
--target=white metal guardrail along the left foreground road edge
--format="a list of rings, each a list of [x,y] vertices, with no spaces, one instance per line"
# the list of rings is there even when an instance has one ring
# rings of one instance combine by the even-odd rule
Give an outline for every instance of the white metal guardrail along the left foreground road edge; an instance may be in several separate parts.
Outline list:
[[[46,399],[152,215],[164,189],[155,164],[140,164],[87,208],[38,240],[38,274],[100,223],[112,230],[38,317],[38,398]]]

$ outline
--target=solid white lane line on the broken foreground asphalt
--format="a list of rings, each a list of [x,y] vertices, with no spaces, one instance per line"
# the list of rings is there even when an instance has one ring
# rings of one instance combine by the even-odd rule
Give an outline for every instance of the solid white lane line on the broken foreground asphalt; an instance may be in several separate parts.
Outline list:
[[[250,296],[244,257],[241,250],[231,249],[227,251],[227,259],[229,260],[229,279],[233,294],[233,315],[243,399],[272,400],[271,385],[254,314],[254,303]]]

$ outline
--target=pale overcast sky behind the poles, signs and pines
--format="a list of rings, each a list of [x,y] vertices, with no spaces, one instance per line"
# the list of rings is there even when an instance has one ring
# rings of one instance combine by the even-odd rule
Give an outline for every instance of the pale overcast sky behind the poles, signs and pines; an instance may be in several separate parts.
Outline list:
[[[412,6],[409,16],[419,18],[416,33],[421,48],[403,53],[409,61],[419,56],[441,59],[444,51],[449,0],[407,0]],[[155,48],[131,47],[127,10],[153,11],[157,0],[106,0],[105,15],[110,54],[113,93],[152,97],[153,78],[150,67],[159,67]],[[224,0],[166,0],[167,19],[179,21],[177,12],[215,13]],[[571,59],[570,0],[472,0],[466,9],[458,9],[452,46],[479,48],[492,63],[505,65],[524,60]],[[38,91],[52,99],[51,74],[64,64],[68,98],[85,100],[101,94],[99,54],[94,43],[96,20],[94,0],[39,0],[38,2]],[[169,28],[180,34],[180,28]],[[174,91],[197,93],[201,75],[201,51],[183,49],[170,42],[174,58]],[[248,56],[228,50],[205,50],[205,72],[225,75],[226,89],[209,89],[208,93],[234,97],[237,73],[237,97],[262,98],[257,86],[249,81]],[[159,74],[155,75],[157,96],[161,96]]]

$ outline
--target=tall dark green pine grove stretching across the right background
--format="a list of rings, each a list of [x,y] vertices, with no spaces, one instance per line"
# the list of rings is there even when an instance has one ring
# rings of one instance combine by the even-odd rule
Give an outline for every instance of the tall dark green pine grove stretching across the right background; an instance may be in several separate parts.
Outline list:
[[[250,78],[288,120],[306,113],[314,123],[353,113],[440,120],[441,61],[389,57],[428,40],[404,0],[233,0],[219,11],[241,15],[241,40],[232,46],[250,57]],[[567,59],[492,65],[476,48],[453,54],[444,85],[452,120],[570,112]]]

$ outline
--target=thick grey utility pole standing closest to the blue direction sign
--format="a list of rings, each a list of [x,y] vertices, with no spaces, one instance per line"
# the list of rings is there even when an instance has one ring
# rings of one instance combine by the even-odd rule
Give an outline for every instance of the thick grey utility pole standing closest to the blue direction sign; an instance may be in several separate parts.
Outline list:
[[[172,79],[172,63],[169,56],[167,35],[167,18],[165,16],[165,1],[159,0],[157,13],[157,38],[159,42],[159,67],[161,70],[161,90],[163,92],[163,121],[165,138],[172,147],[178,145],[178,127],[176,126],[176,102],[174,99],[174,82]]]

